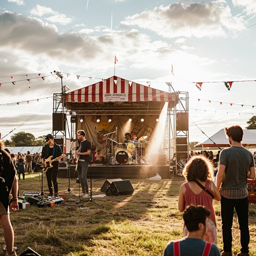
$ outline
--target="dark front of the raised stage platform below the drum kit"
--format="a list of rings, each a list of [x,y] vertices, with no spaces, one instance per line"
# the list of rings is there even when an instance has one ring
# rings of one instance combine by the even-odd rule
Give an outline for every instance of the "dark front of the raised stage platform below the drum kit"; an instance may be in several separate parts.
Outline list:
[[[70,178],[76,178],[75,165],[70,165]],[[68,167],[59,167],[58,177],[68,177]],[[170,177],[170,166],[168,164],[131,165],[116,164],[103,165],[91,164],[92,178],[150,178],[158,173],[162,178]],[[90,177],[90,165],[87,171],[87,178]]]

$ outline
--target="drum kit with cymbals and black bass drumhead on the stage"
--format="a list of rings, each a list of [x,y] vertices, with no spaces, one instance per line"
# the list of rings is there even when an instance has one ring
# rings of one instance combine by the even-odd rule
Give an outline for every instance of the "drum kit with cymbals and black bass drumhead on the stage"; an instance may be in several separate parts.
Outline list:
[[[109,164],[148,164],[145,159],[147,136],[141,136],[138,140],[127,140],[124,143],[118,143],[108,138],[110,143],[108,153]],[[123,147],[118,147],[117,145]]]

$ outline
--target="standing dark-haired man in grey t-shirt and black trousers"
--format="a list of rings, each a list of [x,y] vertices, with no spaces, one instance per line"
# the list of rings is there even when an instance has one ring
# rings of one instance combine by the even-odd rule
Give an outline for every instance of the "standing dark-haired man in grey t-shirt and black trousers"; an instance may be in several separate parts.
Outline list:
[[[237,255],[249,255],[247,178],[255,178],[253,155],[241,144],[239,125],[225,127],[231,147],[220,153],[216,187],[221,194],[222,256],[232,255],[232,222],[235,209],[239,222],[241,249]],[[220,186],[221,184],[221,186]]]

